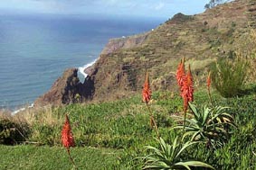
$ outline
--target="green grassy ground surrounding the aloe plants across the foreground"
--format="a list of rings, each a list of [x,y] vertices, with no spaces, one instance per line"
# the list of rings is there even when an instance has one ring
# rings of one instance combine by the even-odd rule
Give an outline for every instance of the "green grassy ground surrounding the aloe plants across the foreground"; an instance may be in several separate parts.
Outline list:
[[[213,92],[213,104],[229,106],[237,129],[223,148],[205,145],[189,148],[185,158],[195,157],[216,169],[253,169],[256,165],[256,102],[255,94],[223,98]],[[209,103],[206,90],[197,89],[195,104]],[[180,133],[171,130],[175,117],[182,115],[183,101],[178,94],[156,92],[150,107],[161,137],[170,142]],[[69,113],[77,147],[71,156],[78,169],[141,169],[147,155],[145,146],[157,146],[156,134],[149,125],[149,112],[140,96],[112,103],[71,104],[24,112],[23,120],[30,126],[25,143],[33,145],[0,146],[0,169],[72,169],[62,148],[61,130],[64,114]],[[24,142],[21,142],[24,143]],[[234,157],[234,158],[232,158]]]

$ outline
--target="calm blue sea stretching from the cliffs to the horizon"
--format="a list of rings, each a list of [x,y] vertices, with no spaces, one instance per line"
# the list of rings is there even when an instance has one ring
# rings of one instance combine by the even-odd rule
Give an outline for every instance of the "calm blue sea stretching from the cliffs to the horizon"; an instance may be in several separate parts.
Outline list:
[[[98,58],[109,39],[150,31],[161,22],[105,16],[0,15],[0,109],[14,111],[32,104],[66,68],[84,67]]]

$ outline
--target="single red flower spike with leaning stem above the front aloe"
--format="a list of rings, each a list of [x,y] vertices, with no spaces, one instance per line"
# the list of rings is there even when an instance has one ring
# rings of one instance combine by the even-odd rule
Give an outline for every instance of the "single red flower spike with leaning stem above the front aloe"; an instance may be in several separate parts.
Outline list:
[[[157,125],[156,125],[156,121],[155,121],[155,118],[153,116],[153,112],[151,111],[151,109],[149,107],[149,104],[148,104],[150,102],[150,99],[151,99],[151,90],[150,90],[149,78],[148,78],[148,72],[147,72],[147,75],[146,75],[146,78],[145,78],[145,83],[143,85],[143,90],[142,90],[142,101],[144,103],[146,103],[146,105],[147,105],[148,112],[150,113],[150,126],[154,130],[156,130],[156,136],[159,139],[160,136],[159,136],[158,128],[157,128]]]

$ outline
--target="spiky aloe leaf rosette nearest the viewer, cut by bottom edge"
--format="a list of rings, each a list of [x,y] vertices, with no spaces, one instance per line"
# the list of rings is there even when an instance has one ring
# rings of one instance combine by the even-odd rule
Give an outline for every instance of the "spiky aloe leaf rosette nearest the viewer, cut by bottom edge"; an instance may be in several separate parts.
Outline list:
[[[149,155],[143,157],[145,159],[145,166],[143,169],[188,169],[191,167],[205,167],[214,169],[201,161],[195,160],[183,160],[182,154],[185,149],[196,142],[188,141],[185,144],[178,142],[177,138],[174,139],[172,145],[167,144],[164,139],[157,139],[160,148],[154,148],[147,146],[147,150],[150,152]]]

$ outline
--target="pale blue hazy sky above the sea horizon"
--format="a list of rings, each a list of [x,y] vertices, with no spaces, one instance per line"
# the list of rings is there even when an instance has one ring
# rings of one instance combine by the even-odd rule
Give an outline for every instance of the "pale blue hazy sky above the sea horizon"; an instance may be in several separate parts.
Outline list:
[[[204,12],[209,0],[0,0],[0,13],[104,14],[168,18]]]

